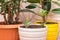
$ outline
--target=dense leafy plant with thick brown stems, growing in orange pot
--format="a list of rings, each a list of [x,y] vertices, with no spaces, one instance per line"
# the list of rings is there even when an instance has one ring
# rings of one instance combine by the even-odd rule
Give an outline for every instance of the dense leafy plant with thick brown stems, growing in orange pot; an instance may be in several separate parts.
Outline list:
[[[0,14],[3,15],[5,24],[18,23],[20,10],[20,0],[0,0]],[[14,15],[16,17],[13,19]]]

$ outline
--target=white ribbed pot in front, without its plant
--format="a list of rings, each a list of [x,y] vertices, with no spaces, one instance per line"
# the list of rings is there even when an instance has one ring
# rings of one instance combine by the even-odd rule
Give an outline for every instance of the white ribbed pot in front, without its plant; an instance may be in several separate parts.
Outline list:
[[[46,40],[47,28],[18,28],[20,40]]]

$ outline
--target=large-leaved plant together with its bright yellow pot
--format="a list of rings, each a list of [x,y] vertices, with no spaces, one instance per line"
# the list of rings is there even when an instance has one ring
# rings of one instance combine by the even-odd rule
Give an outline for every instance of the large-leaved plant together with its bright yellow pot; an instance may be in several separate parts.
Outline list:
[[[28,1],[30,2],[30,1]],[[51,10],[51,2],[55,3],[52,0],[41,0],[41,8],[40,8],[40,15],[36,14],[38,16],[41,16],[43,19],[43,22],[37,21],[35,23],[37,24],[42,24],[47,25],[48,27],[48,33],[47,33],[47,40],[57,40],[57,36],[58,36],[58,23],[56,22],[48,22],[46,21],[46,17],[48,16],[49,12],[53,12],[53,13],[59,13],[60,12],[60,8],[56,8],[56,9],[52,9]],[[32,7],[36,7],[37,5],[35,4],[30,4],[28,5],[26,8],[28,9],[32,9]]]

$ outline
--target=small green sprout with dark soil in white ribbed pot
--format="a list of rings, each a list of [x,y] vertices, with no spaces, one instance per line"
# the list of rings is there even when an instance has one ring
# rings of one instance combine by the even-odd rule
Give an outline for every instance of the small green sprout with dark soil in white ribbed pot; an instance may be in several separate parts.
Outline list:
[[[35,8],[35,7],[34,7]],[[33,12],[32,10],[26,9],[21,12]],[[26,17],[25,22],[18,27],[20,40],[46,40],[46,26],[40,24],[32,24],[29,18]]]

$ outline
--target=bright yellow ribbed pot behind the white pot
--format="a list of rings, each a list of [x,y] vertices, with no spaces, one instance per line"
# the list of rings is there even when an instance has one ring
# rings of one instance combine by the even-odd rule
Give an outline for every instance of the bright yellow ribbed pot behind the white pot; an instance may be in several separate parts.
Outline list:
[[[38,21],[34,22],[35,24]],[[41,22],[41,21],[39,21]],[[46,40],[57,40],[57,36],[58,36],[58,23],[56,24],[46,24],[47,26],[47,36],[46,36]]]

